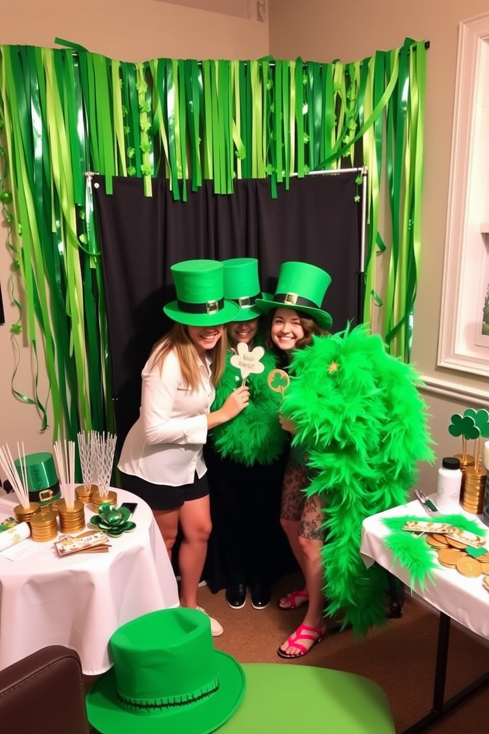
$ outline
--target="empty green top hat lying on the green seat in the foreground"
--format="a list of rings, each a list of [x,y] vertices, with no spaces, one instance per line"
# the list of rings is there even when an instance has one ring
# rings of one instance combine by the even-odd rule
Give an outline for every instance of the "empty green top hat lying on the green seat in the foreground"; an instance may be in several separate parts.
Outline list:
[[[101,734],[207,734],[243,700],[243,668],[214,648],[202,611],[144,614],[109,647],[114,667],[87,694],[89,722]]]

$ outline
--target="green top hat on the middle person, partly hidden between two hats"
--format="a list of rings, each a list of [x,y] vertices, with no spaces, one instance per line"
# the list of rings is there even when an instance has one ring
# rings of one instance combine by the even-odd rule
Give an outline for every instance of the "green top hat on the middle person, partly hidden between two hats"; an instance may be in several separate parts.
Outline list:
[[[262,315],[256,307],[257,298],[264,298],[258,278],[257,258],[223,260],[224,298],[238,304],[240,311],[233,321],[251,321]]]

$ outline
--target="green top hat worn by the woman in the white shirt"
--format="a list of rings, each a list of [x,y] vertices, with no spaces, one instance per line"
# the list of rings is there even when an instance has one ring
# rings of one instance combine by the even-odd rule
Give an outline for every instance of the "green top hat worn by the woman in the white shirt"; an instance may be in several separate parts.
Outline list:
[[[239,306],[224,300],[224,267],[217,260],[185,260],[170,268],[177,300],[163,306],[166,316],[187,326],[234,321]]]

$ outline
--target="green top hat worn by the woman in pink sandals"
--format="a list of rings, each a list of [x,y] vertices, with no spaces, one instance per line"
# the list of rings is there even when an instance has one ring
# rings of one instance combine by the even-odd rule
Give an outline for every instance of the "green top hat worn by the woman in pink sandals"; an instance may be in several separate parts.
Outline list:
[[[293,308],[312,316],[322,329],[329,329],[333,319],[321,309],[321,304],[330,283],[331,276],[315,265],[282,263],[273,299],[259,298],[257,307],[262,313],[268,313],[273,308]]]

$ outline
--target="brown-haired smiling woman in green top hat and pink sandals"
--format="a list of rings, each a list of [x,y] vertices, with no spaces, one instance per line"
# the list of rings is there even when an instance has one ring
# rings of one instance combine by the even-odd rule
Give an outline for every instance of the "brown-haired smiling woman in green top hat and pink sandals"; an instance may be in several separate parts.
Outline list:
[[[320,306],[331,277],[314,265],[282,264],[273,299],[257,300],[257,307],[270,314],[268,341],[278,349],[286,367],[296,349],[304,349],[315,336],[326,335],[331,316]],[[279,416],[285,431],[295,433],[291,421]],[[323,616],[323,564],[325,540],[323,504],[317,494],[306,493],[309,485],[307,457],[300,445],[290,449],[282,487],[280,523],[304,575],[304,587],[279,601],[279,609],[308,605],[304,621],[277,650],[281,658],[300,658],[326,636]]]

